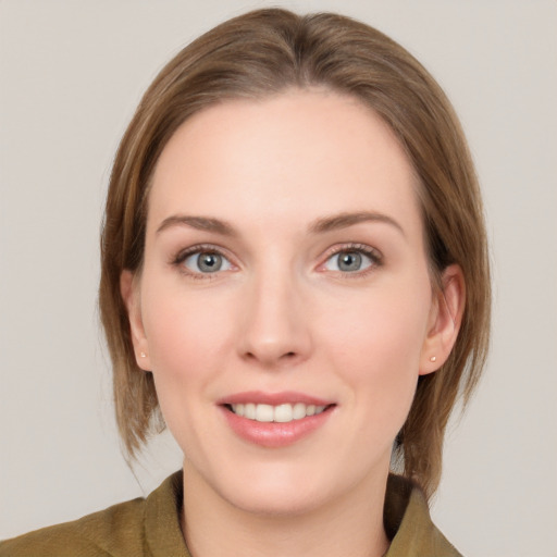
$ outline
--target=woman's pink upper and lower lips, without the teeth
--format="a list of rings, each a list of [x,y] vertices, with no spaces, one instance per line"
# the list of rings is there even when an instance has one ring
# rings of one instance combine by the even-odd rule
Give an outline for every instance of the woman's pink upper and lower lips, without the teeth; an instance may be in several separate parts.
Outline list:
[[[297,404],[324,406],[325,410],[314,416],[293,420],[285,423],[259,422],[235,414],[231,405],[256,404],[278,406],[283,404]],[[321,428],[331,417],[336,405],[296,392],[262,393],[259,391],[237,393],[226,396],[218,401],[230,428],[243,440],[267,448],[280,448],[292,445],[310,435]]]

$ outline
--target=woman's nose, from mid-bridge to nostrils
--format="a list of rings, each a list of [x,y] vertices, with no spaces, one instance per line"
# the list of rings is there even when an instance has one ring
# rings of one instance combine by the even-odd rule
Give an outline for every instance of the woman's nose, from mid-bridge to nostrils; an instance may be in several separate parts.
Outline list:
[[[264,369],[296,366],[312,348],[308,299],[292,273],[270,270],[246,284],[239,356]]]

